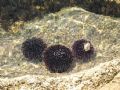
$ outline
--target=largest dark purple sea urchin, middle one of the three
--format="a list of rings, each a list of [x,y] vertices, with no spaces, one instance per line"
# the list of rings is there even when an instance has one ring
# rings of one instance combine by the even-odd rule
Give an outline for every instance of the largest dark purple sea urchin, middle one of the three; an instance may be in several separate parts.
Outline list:
[[[53,45],[45,50],[44,61],[51,72],[62,73],[70,68],[73,56],[69,48],[63,45]]]

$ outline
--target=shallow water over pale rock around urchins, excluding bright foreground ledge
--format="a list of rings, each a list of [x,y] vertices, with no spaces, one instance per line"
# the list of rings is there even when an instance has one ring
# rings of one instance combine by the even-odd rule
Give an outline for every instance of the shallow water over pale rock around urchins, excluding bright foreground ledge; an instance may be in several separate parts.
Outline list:
[[[74,41],[91,41],[96,56],[90,62],[76,62],[70,72],[50,73],[44,62],[28,61],[21,52],[27,38],[40,37],[48,46],[62,44],[71,49]],[[0,77],[27,74],[59,76],[80,72],[120,55],[120,19],[96,15],[80,8],[63,9],[43,19],[25,22],[15,34],[0,36]]]

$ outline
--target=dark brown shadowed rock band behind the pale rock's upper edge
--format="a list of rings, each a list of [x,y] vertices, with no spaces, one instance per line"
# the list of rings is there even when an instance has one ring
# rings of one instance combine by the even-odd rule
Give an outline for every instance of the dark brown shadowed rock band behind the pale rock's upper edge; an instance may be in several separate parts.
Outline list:
[[[79,6],[96,14],[120,17],[120,0],[0,0],[0,23],[5,31],[16,21],[29,21],[58,12],[64,7]]]

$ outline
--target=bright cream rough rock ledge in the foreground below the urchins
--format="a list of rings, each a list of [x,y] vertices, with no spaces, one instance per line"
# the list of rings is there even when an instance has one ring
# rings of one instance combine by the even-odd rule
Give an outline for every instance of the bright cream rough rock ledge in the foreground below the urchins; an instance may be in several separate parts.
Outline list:
[[[0,78],[0,89],[21,90],[22,88],[26,88],[29,90],[96,90],[98,86],[109,83],[119,70],[120,59],[116,59],[106,63],[101,63],[89,70],[61,77],[25,75],[16,78]],[[115,79],[117,80],[118,77],[119,76],[116,76]],[[112,82],[114,83],[115,80]],[[104,90],[104,88],[100,90]],[[105,88],[105,90],[113,89]]]

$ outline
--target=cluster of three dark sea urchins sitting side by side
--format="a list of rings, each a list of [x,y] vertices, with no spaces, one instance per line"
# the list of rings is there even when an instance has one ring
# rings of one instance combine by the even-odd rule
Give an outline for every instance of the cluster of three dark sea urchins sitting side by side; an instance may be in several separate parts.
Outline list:
[[[63,45],[52,45],[46,48],[46,44],[40,38],[27,39],[22,44],[23,55],[28,59],[39,59],[43,54],[46,67],[51,72],[62,73],[67,71],[73,62],[73,56],[83,61],[89,60],[94,54],[94,48],[90,41],[77,40],[72,46],[72,52]],[[44,52],[43,52],[44,51]]]

